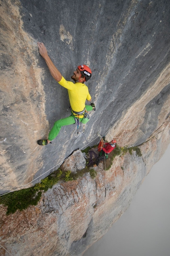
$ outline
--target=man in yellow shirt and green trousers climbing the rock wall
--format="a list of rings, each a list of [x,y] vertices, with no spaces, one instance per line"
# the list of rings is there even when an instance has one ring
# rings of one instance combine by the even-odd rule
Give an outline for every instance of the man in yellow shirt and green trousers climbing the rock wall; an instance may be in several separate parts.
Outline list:
[[[96,108],[94,103],[91,103],[91,105],[85,105],[86,100],[91,102],[91,96],[89,94],[88,87],[84,85],[84,82],[88,81],[91,78],[91,69],[86,65],[79,65],[76,71],[73,72],[73,75],[71,77],[72,80],[75,81],[75,83],[66,81],[64,77],[62,77],[57,67],[55,67],[55,65],[49,58],[47,49],[45,48],[44,44],[41,42],[38,42],[37,44],[39,52],[44,58],[52,77],[61,86],[68,89],[68,96],[72,110],[70,116],[62,118],[54,123],[53,128],[49,132],[48,139],[37,141],[39,145],[44,146],[52,143],[51,141],[55,139],[55,137],[57,137],[62,126],[77,123],[77,127],[79,127],[79,122],[87,123],[90,118],[87,114],[87,111],[95,111]]]

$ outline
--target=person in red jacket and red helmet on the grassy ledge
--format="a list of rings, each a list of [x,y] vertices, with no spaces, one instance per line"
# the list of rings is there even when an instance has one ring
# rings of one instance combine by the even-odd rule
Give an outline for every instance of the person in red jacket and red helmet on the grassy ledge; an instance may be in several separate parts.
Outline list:
[[[113,149],[116,148],[116,141],[113,139],[110,142],[104,142],[104,146],[102,148],[102,150],[100,151],[100,154],[97,158],[97,162],[96,162],[96,166],[99,165],[100,161],[107,159],[108,158],[108,154],[113,151]]]

